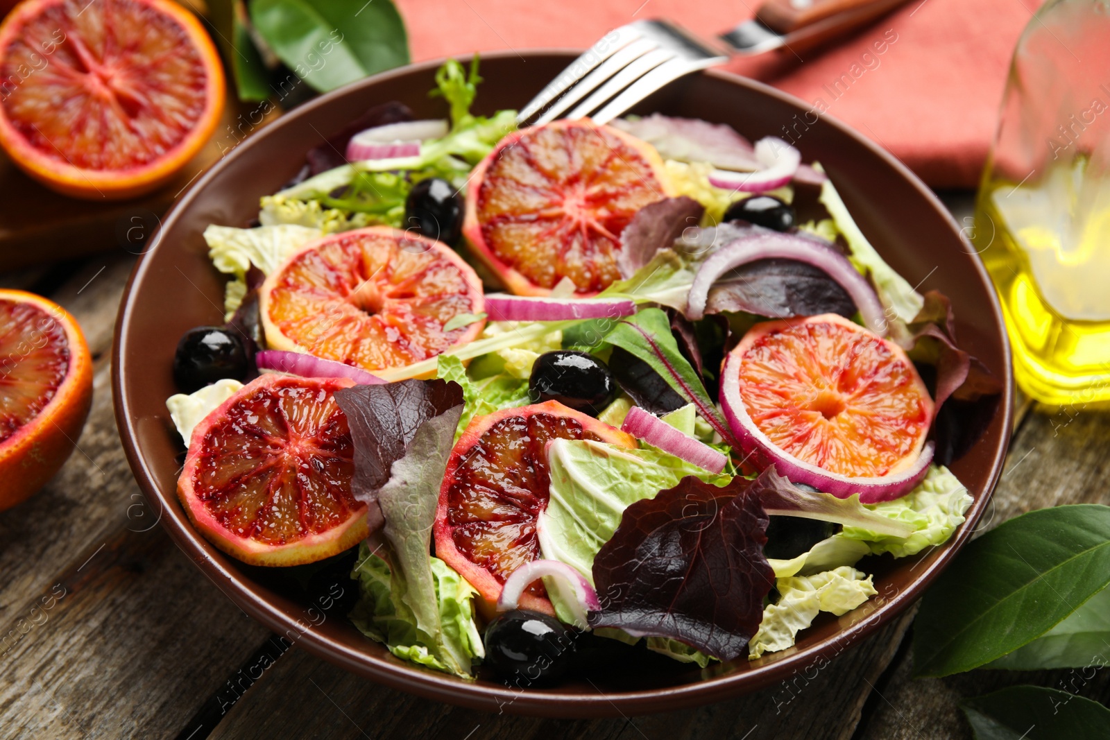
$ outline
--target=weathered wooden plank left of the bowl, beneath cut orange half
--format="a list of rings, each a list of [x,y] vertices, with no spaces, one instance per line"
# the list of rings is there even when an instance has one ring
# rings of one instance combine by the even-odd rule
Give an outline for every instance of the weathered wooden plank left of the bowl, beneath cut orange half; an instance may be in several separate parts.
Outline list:
[[[53,296],[100,359],[79,449],[0,514],[0,737],[176,734],[265,638],[155,526],[123,457],[108,354],[130,267],[90,262]]]

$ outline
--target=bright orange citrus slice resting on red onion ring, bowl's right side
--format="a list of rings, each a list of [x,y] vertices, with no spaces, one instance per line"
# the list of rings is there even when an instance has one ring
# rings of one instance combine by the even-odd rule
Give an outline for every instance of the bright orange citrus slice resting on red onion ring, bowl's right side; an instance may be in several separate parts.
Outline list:
[[[738,396],[771,445],[850,478],[914,467],[932,422],[906,353],[836,314],[756,324],[725,359],[722,383],[729,416]],[[737,435],[751,442],[746,432]]]

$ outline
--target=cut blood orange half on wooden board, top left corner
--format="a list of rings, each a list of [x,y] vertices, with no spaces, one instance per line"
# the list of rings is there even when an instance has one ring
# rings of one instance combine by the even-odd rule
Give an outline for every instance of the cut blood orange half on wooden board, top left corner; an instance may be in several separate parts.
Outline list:
[[[0,26],[0,145],[77,197],[131,197],[169,180],[223,111],[223,68],[169,0],[28,0]]]

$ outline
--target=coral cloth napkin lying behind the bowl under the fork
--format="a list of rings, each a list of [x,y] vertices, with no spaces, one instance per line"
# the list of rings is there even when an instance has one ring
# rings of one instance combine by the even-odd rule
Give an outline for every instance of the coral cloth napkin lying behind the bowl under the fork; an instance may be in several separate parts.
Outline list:
[[[734,59],[845,121],[934,187],[975,187],[997,124],[1010,54],[1040,0],[909,0],[823,50]],[[537,47],[585,48],[642,18],[712,36],[753,17],[744,0],[397,0],[413,59]],[[881,52],[879,51],[881,49]]]

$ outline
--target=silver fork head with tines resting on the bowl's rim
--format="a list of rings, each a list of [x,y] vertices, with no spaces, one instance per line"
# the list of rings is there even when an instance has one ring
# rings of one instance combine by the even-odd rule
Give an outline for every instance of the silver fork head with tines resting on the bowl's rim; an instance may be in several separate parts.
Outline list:
[[[635,21],[609,31],[574,60],[521,110],[516,122],[539,124],[589,115],[597,123],[608,123],[667,83],[727,60],[724,49],[710,47],[674,23]],[[543,114],[531,121],[539,111]]]

